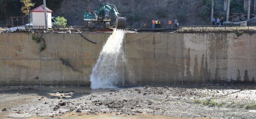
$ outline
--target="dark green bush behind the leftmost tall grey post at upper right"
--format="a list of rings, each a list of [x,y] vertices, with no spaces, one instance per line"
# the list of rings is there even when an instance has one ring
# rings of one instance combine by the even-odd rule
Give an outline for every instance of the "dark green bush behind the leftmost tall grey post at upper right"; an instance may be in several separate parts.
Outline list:
[[[212,0],[201,0],[202,7],[199,9],[199,15],[203,18],[207,18],[211,14]],[[222,5],[218,0],[214,0],[214,12],[220,13]]]

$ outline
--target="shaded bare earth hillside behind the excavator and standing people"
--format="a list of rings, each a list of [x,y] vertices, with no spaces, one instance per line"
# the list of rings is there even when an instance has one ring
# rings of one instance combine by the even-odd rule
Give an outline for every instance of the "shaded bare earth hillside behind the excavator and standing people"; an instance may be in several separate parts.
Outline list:
[[[219,1],[223,2],[223,0]],[[33,0],[33,2],[36,3],[35,7],[42,4],[41,0]],[[203,5],[202,0],[62,0],[54,5],[52,1],[51,4],[49,0],[47,2],[47,7],[53,10],[52,16],[64,16],[68,21],[67,25],[86,25],[83,21],[83,13],[87,12],[89,7],[91,10],[97,10],[104,2],[116,5],[118,12],[127,18],[127,27],[142,28],[143,23],[146,22],[148,28],[151,28],[153,18],[161,19],[162,27],[167,26],[169,19],[174,21],[175,18],[178,18],[183,26],[210,25],[207,18],[199,15],[199,10]],[[10,16],[22,16],[18,9],[21,7],[20,3],[16,1],[15,4],[9,4],[11,5],[8,8],[15,9],[5,10],[6,13],[0,14],[0,25],[10,25]]]

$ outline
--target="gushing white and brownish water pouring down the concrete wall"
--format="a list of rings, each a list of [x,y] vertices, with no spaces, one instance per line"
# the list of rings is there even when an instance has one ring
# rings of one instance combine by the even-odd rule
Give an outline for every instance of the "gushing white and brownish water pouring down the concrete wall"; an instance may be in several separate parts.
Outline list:
[[[124,84],[123,30],[114,30],[107,39],[90,76],[91,88],[115,88]],[[122,79],[123,78],[123,79]]]

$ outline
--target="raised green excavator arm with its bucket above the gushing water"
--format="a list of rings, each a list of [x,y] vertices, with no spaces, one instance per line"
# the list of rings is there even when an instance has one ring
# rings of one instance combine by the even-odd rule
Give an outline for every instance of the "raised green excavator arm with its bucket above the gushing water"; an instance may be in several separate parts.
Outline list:
[[[98,21],[103,20],[105,17],[105,12],[110,12],[113,14],[113,16],[116,19],[116,28],[117,29],[125,29],[126,28],[126,18],[121,17],[121,14],[118,13],[115,5],[113,4],[108,4],[108,3],[101,3],[98,11],[97,11],[97,16],[98,16]]]

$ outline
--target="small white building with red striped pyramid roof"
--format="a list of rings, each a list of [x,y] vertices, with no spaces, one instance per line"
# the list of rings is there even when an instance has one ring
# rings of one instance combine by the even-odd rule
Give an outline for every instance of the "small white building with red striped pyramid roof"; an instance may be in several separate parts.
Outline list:
[[[44,6],[40,5],[37,8],[31,10],[32,12],[32,21],[33,26],[45,26],[45,20],[44,20]],[[52,26],[52,11],[48,8],[46,8],[47,13],[47,26]],[[45,28],[45,27],[44,27]]]

